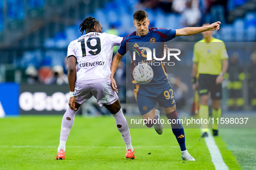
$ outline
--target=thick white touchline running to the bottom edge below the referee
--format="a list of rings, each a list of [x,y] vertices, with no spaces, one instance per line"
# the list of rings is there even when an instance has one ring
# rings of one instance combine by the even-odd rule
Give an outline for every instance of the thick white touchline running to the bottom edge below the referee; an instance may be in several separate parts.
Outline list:
[[[228,170],[227,165],[225,164],[225,162],[223,161],[223,158],[220,154],[220,150],[217,147],[213,136],[211,135],[210,132],[208,133],[208,137],[204,138],[204,141],[210,151],[211,154],[211,161],[214,164],[214,167],[216,170]]]

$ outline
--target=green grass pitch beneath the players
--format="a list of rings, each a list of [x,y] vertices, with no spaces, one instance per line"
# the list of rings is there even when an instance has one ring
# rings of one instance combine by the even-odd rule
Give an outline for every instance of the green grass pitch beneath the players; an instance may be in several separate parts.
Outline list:
[[[66,160],[55,160],[61,121],[62,116],[0,119],[0,169],[215,169],[199,129],[185,129],[187,149],[195,162],[181,160],[171,129],[164,129],[162,135],[154,129],[130,129],[137,154],[135,160],[125,159],[125,145],[111,116],[76,116]],[[215,142],[227,166],[254,169],[255,129],[220,129],[220,134]]]

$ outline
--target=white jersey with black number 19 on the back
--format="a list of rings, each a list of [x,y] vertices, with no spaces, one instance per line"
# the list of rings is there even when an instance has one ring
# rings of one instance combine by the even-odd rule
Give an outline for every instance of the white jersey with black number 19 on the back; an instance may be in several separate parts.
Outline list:
[[[120,45],[122,37],[107,33],[88,32],[68,45],[68,57],[77,59],[78,84],[110,82],[113,46]]]

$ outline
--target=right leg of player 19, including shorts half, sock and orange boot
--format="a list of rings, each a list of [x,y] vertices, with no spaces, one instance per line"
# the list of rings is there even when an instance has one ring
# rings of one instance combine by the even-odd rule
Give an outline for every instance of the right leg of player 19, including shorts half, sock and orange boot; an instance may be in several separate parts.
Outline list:
[[[131,136],[128,123],[123,116],[117,93],[113,91],[110,83],[95,83],[90,85],[90,91],[97,99],[97,103],[107,108],[116,121],[116,126],[126,145],[126,157],[134,159],[134,151],[131,143]]]

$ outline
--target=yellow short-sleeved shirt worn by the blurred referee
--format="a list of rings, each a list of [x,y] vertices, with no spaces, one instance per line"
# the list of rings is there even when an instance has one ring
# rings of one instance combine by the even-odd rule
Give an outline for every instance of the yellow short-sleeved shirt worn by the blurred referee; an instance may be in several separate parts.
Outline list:
[[[198,63],[200,74],[219,75],[222,60],[227,60],[227,50],[223,41],[212,38],[207,43],[204,39],[194,44],[193,62]]]

